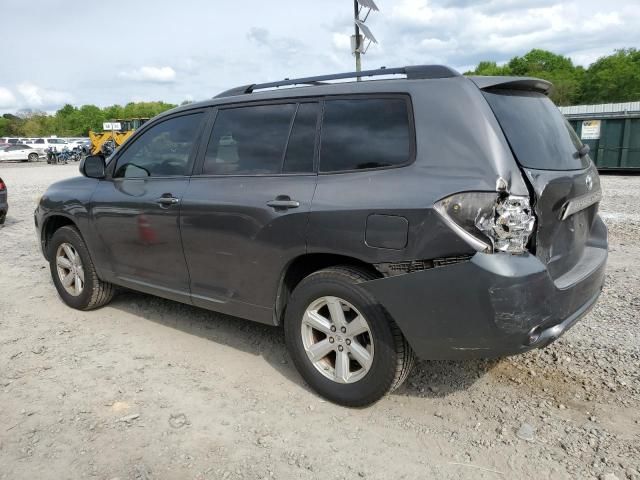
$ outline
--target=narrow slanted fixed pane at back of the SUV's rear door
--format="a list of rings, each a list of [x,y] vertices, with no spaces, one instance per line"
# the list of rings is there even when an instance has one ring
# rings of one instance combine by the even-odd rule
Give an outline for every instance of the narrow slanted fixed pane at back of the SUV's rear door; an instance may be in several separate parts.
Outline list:
[[[301,103],[298,107],[287,144],[283,172],[313,172],[319,111],[320,106],[317,103]]]

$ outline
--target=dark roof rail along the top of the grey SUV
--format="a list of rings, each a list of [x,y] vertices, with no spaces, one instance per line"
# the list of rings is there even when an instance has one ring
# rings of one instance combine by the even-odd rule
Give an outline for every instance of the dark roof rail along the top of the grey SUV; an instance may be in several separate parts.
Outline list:
[[[323,85],[328,80],[341,80],[347,78],[359,78],[359,77],[378,77],[381,75],[406,75],[409,80],[427,79],[427,78],[449,78],[457,77],[460,74],[452,68],[444,65],[410,65],[406,67],[395,68],[378,68],[377,70],[363,70],[361,72],[345,72],[345,73],[332,73],[329,75],[319,75],[316,77],[303,77],[303,78],[285,78],[278,82],[268,83],[252,83],[249,85],[242,85],[239,87],[225,90],[219,93],[213,98],[231,97],[233,95],[244,95],[252,93],[256,90],[263,90],[265,88],[277,88],[288,85]]]

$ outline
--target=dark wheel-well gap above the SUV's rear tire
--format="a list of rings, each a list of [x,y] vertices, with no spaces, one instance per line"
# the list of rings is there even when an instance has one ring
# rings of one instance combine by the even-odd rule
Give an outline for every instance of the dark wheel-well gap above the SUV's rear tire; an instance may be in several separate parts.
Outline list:
[[[291,260],[280,275],[278,291],[275,299],[274,323],[281,325],[284,313],[291,293],[296,286],[307,276],[318,270],[329,267],[345,265],[361,268],[376,277],[382,277],[381,273],[370,263],[355,257],[337,255],[332,253],[306,253]]]

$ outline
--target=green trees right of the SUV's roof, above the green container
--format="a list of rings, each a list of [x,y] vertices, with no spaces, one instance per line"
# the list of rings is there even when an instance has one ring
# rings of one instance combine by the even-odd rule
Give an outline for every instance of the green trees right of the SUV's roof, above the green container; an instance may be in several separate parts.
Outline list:
[[[616,50],[584,68],[569,57],[533,49],[504,65],[482,61],[465,75],[538,77],[553,83],[551,99],[557,105],[615,103],[640,100],[640,51]]]

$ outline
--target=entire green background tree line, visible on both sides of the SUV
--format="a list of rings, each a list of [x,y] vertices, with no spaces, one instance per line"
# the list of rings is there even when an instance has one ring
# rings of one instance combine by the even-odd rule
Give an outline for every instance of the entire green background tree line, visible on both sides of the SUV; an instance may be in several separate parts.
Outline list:
[[[589,67],[573,64],[569,57],[533,49],[513,57],[504,65],[493,61],[478,63],[465,75],[515,75],[543,78],[553,83],[551,99],[557,105],[611,103],[640,100],[640,51],[616,50]],[[0,117],[0,136],[61,137],[86,136],[101,131],[102,123],[117,119],[151,118],[175,107],[165,102],[128,103],[99,108],[95,105],[65,105],[54,115],[22,111]]]

